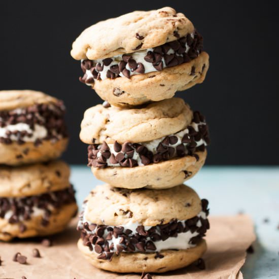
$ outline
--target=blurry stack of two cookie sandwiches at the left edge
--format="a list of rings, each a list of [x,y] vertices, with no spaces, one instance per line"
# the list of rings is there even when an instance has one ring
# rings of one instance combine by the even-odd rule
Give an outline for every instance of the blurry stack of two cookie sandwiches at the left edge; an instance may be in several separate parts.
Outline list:
[[[42,92],[0,91],[0,240],[62,231],[77,211],[63,102]]]

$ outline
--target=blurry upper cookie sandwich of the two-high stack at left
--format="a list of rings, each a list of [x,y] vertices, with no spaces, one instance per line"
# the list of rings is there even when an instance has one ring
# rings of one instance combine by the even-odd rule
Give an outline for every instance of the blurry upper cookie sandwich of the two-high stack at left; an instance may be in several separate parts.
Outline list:
[[[31,90],[0,91],[0,164],[58,158],[68,142],[63,102]]]

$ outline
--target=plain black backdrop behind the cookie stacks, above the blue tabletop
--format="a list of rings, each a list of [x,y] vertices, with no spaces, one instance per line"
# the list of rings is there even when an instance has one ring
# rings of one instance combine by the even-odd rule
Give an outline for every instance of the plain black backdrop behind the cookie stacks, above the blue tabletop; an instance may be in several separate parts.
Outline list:
[[[64,158],[86,164],[80,122],[85,109],[101,99],[78,81],[72,42],[99,20],[171,6],[194,23],[210,54],[205,82],[176,94],[210,125],[207,164],[278,164],[278,12],[268,3],[1,1],[0,89],[40,90],[63,99],[71,133]]]

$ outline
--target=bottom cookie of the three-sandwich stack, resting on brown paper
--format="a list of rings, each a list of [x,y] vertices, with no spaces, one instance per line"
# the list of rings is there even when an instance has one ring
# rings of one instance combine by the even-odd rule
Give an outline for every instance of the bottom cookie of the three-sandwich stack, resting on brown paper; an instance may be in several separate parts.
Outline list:
[[[84,257],[95,267],[113,272],[156,272],[162,273],[185,267],[199,259],[206,251],[204,239],[193,248],[186,250],[163,250],[160,253],[120,253],[111,261],[98,259],[98,254],[90,252],[78,241],[78,248]]]

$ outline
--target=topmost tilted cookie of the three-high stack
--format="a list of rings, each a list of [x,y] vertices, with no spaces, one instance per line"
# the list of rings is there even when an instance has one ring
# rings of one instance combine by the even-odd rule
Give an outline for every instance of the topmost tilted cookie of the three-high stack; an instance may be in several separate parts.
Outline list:
[[[106,58],[160,46],[193,31],[192,22],[170,7],[135,11],[85,29],[71,55],[77,60]]]

